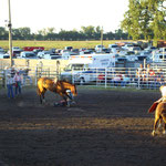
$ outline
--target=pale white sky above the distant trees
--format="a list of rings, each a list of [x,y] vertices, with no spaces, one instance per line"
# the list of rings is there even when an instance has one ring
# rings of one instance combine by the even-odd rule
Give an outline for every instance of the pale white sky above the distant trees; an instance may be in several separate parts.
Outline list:
[[[54,28],[80,31],[81,27],[120,28],[128,0],[10,0],[12,28],[29,27],[32,32]],[[9,20],[8,0],[0,0],[0,27]]]

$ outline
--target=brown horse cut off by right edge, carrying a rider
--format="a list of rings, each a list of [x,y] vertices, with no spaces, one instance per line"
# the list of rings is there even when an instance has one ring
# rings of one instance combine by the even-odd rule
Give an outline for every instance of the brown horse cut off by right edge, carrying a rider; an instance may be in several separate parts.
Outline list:
[[[159,122],[159,125],[158,125]],[[155,136],[156,129],[160,126],[162,122],[164,122],[164,131],[163,134],[166,134],[166,101],[158,103],[156,111],[155,111],[155,122],[154,122],[154,129],[152,135]]]

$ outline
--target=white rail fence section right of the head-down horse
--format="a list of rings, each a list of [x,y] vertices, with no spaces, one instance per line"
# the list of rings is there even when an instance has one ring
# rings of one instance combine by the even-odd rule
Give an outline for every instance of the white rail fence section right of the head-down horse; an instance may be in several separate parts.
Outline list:
[[[96,69],[96,72],[86,71],[72,77],[74,83],[105,87],[158,89],[166,84],[166,68],[112,68],[101,71]]]

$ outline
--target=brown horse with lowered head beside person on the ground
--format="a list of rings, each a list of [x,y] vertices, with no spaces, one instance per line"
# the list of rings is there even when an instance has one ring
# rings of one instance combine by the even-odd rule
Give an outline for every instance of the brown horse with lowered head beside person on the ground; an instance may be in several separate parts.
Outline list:
[[[58,93],[60,96],[63,97],[65,101],[65,104],[68,104],[68,98],[73,101],[73,97],[69,95],[68,90],[71,91],[73,96],[77,95],[76,86],[72,83],[69,83],[66,81],[56,81],[51,80],[49,77],[40,77],[37,83],[38,86],[38,95],[40,96],[40,103],[42,104],[44,102],[44,94],[49,90],[53,93]]]

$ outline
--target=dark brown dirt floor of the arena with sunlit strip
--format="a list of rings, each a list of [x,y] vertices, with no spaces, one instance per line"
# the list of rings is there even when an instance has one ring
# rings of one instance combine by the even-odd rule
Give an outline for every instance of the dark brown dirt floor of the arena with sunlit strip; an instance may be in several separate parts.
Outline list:
[[[0,93],[0,166],[158,166],[166,136],[151,135],[151,104],[159,91],[77,89],[76,104],[54,107],[35,89],[8,100]]]

